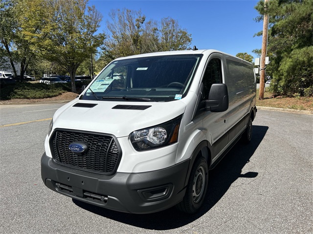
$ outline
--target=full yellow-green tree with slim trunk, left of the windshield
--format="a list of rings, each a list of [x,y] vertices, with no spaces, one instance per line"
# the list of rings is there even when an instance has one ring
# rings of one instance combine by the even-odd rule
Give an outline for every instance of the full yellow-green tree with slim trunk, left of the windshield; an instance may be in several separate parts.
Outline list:
[[[32,35],[40,44],[43,58],[58,64],[70,75],[72,92],[76,92],[77,68],[96,52],[105,38],[96,34],[101,14],[88,0],[43,0],[46,4],[46,22],[39,34]]]

